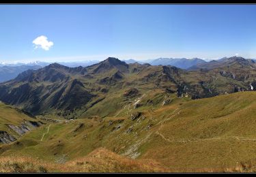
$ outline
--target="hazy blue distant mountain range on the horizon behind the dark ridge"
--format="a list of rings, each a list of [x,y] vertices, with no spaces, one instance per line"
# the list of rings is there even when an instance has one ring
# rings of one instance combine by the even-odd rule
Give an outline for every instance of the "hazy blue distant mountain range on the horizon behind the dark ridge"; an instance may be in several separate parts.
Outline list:
[[[236,57],[236,59],[241,59],[242,57]],[[213,69],[215,67],[221,67],[225,63],[229,62],[229,59],[224,57],[219,60],[204,61],[203,59],[193,58],[193,59],[173,59],[173,58],[159,58],[159,59],[148,59],[145,61],[137,61],[135,59],[122,60],[127,64],[139,63],[141,65],[148,63],[150,65],[171,65],[186,70],[197,70],[197,69]],[[249,59],[255,61],[255,59]],[[94,65],[100,61],[91,60],[91,61],[77,61],[77,62],[59,62],[60,65],[66,67],[87,67],[89,65]],[[39,69],[40,67],[46,67],[52,63],[47,63],[43,61],[35,61],[31,63],[16,63],[16,64],[6,64],[0,63],[0,82],[14,79],[18,74],[27,69]]]

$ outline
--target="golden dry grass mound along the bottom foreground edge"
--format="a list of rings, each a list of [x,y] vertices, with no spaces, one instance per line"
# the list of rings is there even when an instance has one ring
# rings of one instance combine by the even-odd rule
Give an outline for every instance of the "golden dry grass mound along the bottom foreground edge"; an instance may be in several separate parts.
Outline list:
[[[66,163],[46,163],[29,157],[0,157],[0,172],[168,172],[152,160],[134,160],[98,148]]]

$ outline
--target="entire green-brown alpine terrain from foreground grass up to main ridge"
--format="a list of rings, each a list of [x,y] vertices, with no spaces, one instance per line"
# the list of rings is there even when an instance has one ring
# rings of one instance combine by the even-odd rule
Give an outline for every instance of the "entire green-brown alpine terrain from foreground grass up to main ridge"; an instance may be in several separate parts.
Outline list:
[[[0,172],[255,172],[255,61],[173,60],[1,82]]]

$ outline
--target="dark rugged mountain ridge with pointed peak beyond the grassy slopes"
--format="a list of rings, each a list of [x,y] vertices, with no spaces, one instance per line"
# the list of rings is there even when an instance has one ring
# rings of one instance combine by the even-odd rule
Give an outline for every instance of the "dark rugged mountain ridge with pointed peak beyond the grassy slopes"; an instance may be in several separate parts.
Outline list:
[[[166,88],[177,97],[190,95],[192,99],[256,89],[255,62],[235,57],[217,63],[221,67],[193,71],[170,65],[127,64],[114,57],[88,67],[53,63],[0,84],[0,100],[33,114],[57,112],[75,118],[92,114],[88,112],[100,105],[106,108],[102,104],[113,101],[115,93],[124,94],[127,86],[139,86],[143,91]],[[74,89],[70,87],[73,84]]]

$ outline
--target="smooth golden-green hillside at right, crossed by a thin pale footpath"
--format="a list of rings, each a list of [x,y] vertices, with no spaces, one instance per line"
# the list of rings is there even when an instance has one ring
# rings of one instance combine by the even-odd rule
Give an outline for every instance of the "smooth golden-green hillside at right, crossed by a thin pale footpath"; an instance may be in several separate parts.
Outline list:
[[[255,98],[248,92],[184,103],[158,129],[168,140],[155,135],[142,157],[177,170],[233,167],[255,158]]]

